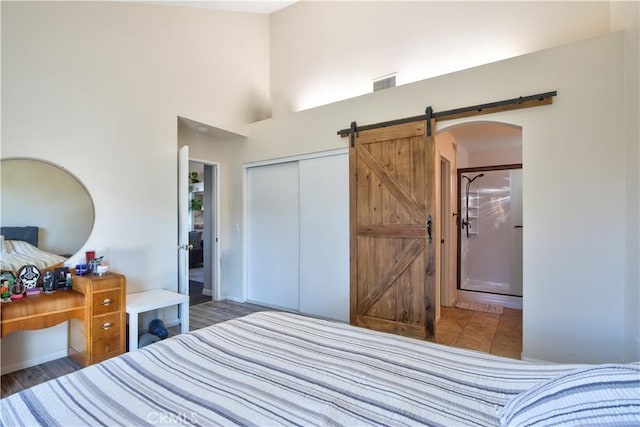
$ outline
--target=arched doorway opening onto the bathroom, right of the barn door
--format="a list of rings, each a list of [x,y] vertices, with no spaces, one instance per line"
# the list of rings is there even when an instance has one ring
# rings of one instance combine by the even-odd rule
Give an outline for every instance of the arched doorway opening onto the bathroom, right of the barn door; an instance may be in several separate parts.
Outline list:
[[[436,156],[436,164],[441,165],[436,173],[441,212],[439,341],[519,357],[522,128],[492,121],[450,126],[436,135]],[[496,292],[507,285],[514,286]],[[518,285],[518,295],[514,295],[511,289]],[[479,312],[457,311],[456,305]],[[488,314],[482,311],[485,308]],[[491,312],[494,308],[499,314]],[[475,320],[479,323],[474,324]]]

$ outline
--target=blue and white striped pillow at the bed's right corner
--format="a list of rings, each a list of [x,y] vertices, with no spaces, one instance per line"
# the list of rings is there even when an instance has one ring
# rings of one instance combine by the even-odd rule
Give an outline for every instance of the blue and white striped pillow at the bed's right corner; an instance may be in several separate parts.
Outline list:
[[[498,409],[503,426],[640,426],[640,365],[598,365],[552,378]]]

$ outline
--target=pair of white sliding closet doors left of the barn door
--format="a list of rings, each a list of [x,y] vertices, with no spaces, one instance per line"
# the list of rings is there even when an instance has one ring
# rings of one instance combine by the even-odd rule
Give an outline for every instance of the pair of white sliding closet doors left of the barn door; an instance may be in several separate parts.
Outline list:
[[[349,321],[349,156],[247,167],[247,297]]]

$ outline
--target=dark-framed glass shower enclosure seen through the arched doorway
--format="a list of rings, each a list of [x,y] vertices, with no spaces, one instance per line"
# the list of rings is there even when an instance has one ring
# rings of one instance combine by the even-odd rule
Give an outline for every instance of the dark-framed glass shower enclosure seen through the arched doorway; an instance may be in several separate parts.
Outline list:
[[[522,166],[458,170],[458,289],[522,296]]]

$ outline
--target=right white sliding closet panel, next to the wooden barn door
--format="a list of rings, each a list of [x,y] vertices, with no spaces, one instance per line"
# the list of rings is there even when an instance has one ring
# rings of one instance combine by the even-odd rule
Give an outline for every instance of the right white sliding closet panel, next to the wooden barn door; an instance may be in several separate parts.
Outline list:
[[[300,161],[300,311],[349,321],[349,156]]]

